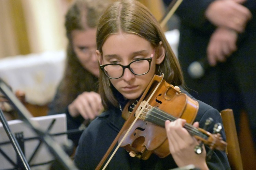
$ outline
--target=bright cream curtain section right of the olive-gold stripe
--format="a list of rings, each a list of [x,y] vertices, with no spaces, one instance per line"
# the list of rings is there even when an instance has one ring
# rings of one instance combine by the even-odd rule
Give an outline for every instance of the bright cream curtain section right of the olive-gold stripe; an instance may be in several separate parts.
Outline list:
[[[31,52],[65,48],[64,0],[22,0]]]

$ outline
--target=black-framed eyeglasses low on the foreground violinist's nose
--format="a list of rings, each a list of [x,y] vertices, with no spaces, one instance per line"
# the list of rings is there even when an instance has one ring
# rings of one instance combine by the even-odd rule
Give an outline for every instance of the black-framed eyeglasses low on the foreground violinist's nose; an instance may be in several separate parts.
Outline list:
[[[152,57],[141,58],[135,60],[123,66],[122,64],[105,64],[100,65],[100,69],[106,74],[110,79],[119,79],[124,75],[125,69],[128,68],[135,75],[144,75],[150,70],[150,65],[152,62]]]

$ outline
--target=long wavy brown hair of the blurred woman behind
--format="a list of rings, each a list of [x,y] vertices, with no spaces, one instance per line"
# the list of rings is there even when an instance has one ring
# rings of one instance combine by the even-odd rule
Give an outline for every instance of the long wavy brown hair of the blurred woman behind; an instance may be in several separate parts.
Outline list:
[[[74,30],[96,29],[99,17],[109,3],[109,0],[75,0],[71,4],[65,18],[66,35],[69,40],[66,67],[55,109],[66,107],[84,91],[98,91],[98,78],[81,65],[72,46],[71,33]]]

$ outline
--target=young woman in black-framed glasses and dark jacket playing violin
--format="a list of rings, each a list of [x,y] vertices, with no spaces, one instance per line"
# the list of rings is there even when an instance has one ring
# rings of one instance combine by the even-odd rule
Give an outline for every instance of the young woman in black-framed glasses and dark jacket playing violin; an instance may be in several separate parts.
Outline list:
[[[105,111],[90,123],[80,138],[74,158],[79,169],[97,167],[126,124],[122,117],[125,106],[141,98],[155,74],[163,73],[167,83],[179,86],[182,94],[187,94],[182,88],[184,82],[179,62],[159,23],[136,0],[114,2],[106,9],[98,24],[97,49],[101,69],[99,89]],[[195,98],[193,100],[196,101]],[[222,123],[221,116],[211,106],[197,102],[199,108],[194,126],[202,128],[207,118],[211,117],[213,123],[208,131],[212,133],[213,124]],[[152,154],[144,160],[132,157],[124,148],[118,148],[106,168],[172,169],[193,164],[199,169],[230,169],[225,151],[214,150],[211,158],[206,159],[209,147],[202,145],[202,153],[195,153],[199,141],[184,128],[185,122],[179,118],[164,122],[163,135],[168,137],[167,150],[170,153],[167,156]],[[225,141],[224,130],[219,133]]]

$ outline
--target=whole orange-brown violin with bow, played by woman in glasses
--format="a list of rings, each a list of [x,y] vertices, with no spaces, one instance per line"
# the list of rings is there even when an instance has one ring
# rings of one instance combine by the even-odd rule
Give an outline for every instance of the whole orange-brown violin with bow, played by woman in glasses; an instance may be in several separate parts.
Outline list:
[[[174,121],[177,118],[185,119],[184,128],[191,136],[210,146],[210,149],[223,151],[226,149],[227,143],[222,140],[220,134],[211,134],[191,125],[198,112],[198,102],[176,90],[163,79],[163,76],[164,74],[154,75],[140,100],[126,104],[122,112],[126,122],[100,164],[103,164],[116,142],[118,147],[126,149],[130,156],[143,160],[148,159],[152,153],[159,157],[168,156],[170,151],[165,121]],[[98,167],[101,166],[100,164]]]

